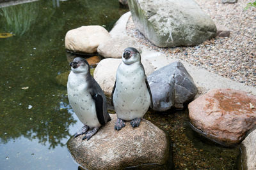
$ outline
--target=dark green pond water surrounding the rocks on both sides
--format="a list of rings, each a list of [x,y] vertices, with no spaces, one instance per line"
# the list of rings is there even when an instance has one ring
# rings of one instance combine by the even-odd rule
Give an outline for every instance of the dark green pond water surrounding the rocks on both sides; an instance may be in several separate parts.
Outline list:
[[[81,25],[109,31],[127,11],[117,0],[35,1],[0,8],[0,169],[77,169],[67,140],[81,122],[56,77],[70,70],[64,39]],[[7,34],[8,35],[8,34]],[[239,148],[223,148],[189,127],[188,110],[147,113],[170,135],[175,169],[236,169]]]

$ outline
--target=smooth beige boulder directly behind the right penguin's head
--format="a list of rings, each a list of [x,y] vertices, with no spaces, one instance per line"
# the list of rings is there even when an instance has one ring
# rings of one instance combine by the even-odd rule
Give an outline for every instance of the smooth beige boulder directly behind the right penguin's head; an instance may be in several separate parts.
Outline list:
[[[140,46],[137,44],[137,42],[126,35],[113,36],[109,39],[109,41],[100,43],[97,51],[105,58],[120,59],[122,58],[124,49],[127,47],[134,47],[137,50],[141,51]]]

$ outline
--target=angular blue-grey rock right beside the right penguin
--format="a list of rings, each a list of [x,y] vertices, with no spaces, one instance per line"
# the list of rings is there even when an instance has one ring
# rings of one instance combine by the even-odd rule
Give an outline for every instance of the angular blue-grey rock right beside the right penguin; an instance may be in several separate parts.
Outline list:
[[[197,88],[193,78],[179,61],[164,66],[147,77],[153,98],[153,110],[182,109],[191,101]]]

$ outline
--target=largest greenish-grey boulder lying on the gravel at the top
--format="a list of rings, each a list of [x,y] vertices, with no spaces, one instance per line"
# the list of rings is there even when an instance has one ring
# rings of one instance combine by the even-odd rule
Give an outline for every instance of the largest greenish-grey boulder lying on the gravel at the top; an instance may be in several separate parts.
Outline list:
[[[132,20],[160,47],[198,45],[216,36],[212,19],[193,0],[131,0]]]

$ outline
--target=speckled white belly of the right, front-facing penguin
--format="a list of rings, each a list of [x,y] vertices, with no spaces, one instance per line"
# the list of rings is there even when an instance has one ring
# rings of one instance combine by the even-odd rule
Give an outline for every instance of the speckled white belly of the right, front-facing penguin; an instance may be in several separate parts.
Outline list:
[[[128,71],[128,73],[127,73]],[[142,118],[150,106],[150,95],[141,67],[118,67],[113,103],[116,115],[123,120]]]

